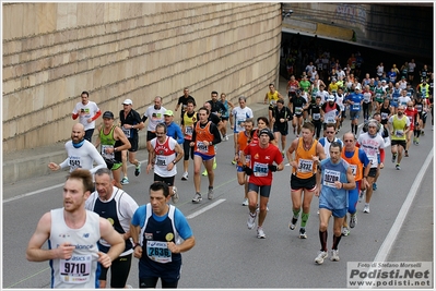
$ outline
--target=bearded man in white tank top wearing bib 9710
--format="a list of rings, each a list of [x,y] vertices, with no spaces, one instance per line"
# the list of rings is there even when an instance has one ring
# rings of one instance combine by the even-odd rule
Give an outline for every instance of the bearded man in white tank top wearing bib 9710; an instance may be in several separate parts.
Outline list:
[[[92,187],[89,170],[72,171],[63,185],[63,208],[43,215],[28,241],[27,260],[50,260],[51,288],[98,288],[97,263],[108,268],[125,250],[125,241],[110,222],[85,209]],[[98,251],[99,239],[110,245],[106,254]],[[48,240],[48,248],[42,248]]]

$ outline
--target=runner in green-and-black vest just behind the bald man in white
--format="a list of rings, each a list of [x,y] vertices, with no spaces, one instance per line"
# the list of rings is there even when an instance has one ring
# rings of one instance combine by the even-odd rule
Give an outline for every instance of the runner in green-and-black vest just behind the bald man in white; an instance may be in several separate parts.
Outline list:
[[[115,185],[122,189],[120,183],[122,167],[122,150],[131,147],[129,140],[120,128],[114,125],[114,113],[106,111],[103,114],[103,125],[98,128],[95,147],[102,146],[101,153],[108,169],[113,171]]]

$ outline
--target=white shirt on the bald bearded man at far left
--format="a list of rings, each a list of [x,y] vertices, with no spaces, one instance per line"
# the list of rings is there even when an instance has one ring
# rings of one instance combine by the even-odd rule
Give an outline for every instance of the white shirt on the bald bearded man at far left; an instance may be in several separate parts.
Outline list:
[[[66,149],[68,157],[59,165],[61,169],[70,167],[70,172],[72,172],[81,168],[95,173],[99,168],[106,168],[106,162],[98,150],[86,140],[83,141],[83,145],[79,148],[75,148],[72,141],[69,141],[66,143]],[[97,163],[95,167],[93,165],[94,161]]]

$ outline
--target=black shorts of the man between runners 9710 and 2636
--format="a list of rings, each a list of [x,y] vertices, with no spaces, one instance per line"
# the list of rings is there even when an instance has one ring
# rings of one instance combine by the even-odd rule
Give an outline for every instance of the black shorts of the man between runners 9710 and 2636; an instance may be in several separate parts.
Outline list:
[[[132,254],[126,256],[119,256],[113,260],[110,265],[110,288],[125,288],[127,279],[130,272],[130,266],[132,262]],[[102,272],[99,274],[98,280],[106,281],[107,270],[101,265]]]

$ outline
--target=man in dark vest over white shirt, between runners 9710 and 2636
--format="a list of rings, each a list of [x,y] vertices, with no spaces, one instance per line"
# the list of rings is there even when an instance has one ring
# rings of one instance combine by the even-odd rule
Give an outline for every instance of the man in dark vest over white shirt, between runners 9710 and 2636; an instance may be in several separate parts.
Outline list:
[[[129,194],[114,186],[115,182],[109,169],[97,170],[95,172],[96,191],[86,199],[85,208],[111,221],[114,229],[121,234],[126,247],[110,266],[110,288],[127,288],[126,282],[133,253],[133,244],[130,239],[130,220],[138,209],[138,204]],[[103,253],[107,254],[110,245],[105,240],[98,241],[98,250]],[[98,277],[99,288],[106,288],[107,270],[108,268],[102,266],[102,272]]]

